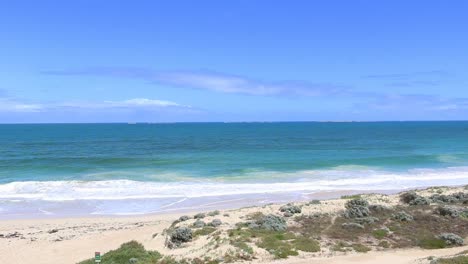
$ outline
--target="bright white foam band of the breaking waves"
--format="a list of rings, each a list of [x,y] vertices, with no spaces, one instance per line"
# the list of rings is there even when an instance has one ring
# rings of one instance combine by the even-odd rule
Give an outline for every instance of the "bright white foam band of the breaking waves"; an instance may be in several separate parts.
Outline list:
[[[247,177],[249,178],[249,177]],[[145,198],[196,198],[222,195],[277,192],[315,192],[324,190],[389,190],[430,185],[468,183],[468,167],[413,169],[401,173],[357,168],[295,173],[252,172],[249,182],[210,180],[184,182],[101,181],[25,181],[0,185],[2,200],[119,200]],[[254,182],[255,179],[275,182]],[[283,179],[282,182],[276,180]],[[285,182],[284,179],[294,179]]]

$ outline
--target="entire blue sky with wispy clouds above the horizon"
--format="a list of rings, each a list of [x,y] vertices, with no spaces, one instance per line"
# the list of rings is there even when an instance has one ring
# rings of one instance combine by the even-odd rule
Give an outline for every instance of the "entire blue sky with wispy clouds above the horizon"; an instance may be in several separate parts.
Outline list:
[[[0,122],[460,120],[467,1],[2,1]]]

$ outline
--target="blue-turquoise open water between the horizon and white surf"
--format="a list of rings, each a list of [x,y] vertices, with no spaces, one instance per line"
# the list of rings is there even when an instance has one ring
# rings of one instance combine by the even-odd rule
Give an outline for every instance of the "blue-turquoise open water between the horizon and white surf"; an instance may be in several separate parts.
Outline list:
[[[468,122],[0,125],[0,183],[467,164]]]

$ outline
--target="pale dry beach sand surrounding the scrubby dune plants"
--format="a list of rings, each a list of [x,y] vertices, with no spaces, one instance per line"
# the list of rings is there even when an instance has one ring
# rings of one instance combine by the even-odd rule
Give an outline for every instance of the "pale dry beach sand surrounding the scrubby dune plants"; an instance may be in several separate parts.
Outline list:
[[[463,187],[438,188],[444,194],[463,192]],[[466,191],[465,191],[466,192]],[[434,189],[418,192],[422,196],[434,194]],[[387,207],[398,206],[401,202],[397,194],[365,194],[362,198],[370,204]],[[335,219],[343,212],[349,199],[322,200],[320,204],[306,202],[295,203],[302,207],[298,216],[330,215]],[[203,218],[206,223],[213,219],[221,220],[218,232],[235,229],[236,224],[246,221],[249,216],[261,212],[264,215],[281,215],[280,204],[226,209],[209,214]],[[193,215],[196,212],[184,213]],[[165,232],[181,216],[177,214],[155,214],[131,217],[93,217],[93,218],[43,218],[23,220],[3,220],[0,222],[0,256],[2,263],[77,263],[94,256],[95,251],[102,253],[118,248],[122,243],[135,240],[147,250],[157,250],[164,256],[174,258],[197,258],[223,256],[231,249],[229,243],[210,247],[210,236],[200,236],[180,247],[170,249],[166,246]],[[297,216],[296,216],[297,217]],[[195,220],[177,223],[191,226]],[[289,226],[294,226],[293,218],[288,218]],[[329,228],[329,227],[327,227]],[[297,256],[287,259],[275,259],[269,252],[255,247],[255,257],[244,260],[249,263],[429,263],[427,257],[449,256],[468,249],[468,246],[443,249],[420,248],[382,248],[371,241],[372,249],[367,253],[354,250],[334,251],[330,248],[331,240],[321,238],[321,249],[318,252],[299,252]],[[327,246],[328,245],[328,246]],[[239,260],[240,261],[240,260]]]

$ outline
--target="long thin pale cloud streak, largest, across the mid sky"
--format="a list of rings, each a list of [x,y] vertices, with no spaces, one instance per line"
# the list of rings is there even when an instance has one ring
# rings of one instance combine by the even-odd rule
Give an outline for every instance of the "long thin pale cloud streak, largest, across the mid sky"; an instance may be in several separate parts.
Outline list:
[[[133,78],[174,87],[256,96],[324,96],[352,93],[349,87],[334,83],[267,82],[210,71],[151,71],[144,68],[99,67],[81,70],[44,71],[43,73]]]

